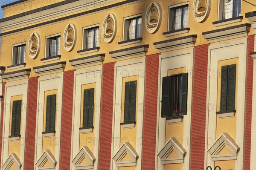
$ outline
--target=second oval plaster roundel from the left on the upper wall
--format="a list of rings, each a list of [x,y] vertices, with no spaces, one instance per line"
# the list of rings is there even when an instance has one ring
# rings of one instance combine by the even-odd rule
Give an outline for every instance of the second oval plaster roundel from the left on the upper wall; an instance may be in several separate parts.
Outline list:
[[[70,52],[76,44],[76,27],[70,23],[66,26],[63,36],[64,49]]]

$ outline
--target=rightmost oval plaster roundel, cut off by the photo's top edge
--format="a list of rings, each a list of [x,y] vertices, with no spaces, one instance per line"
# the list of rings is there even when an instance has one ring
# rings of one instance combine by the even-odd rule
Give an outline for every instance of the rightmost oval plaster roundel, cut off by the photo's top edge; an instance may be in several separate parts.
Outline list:
[[[193,16],[199,23],[204,22],[211,10],[211,0],[194,0]]]

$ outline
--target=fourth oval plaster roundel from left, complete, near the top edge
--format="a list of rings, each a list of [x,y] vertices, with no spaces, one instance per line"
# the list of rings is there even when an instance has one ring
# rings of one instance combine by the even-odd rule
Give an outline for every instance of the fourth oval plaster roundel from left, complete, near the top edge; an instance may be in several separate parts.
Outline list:
[[[162,20],[162,11],[158,3],[151,3],[148,6],[145,25],[149,33],[157,32]]]

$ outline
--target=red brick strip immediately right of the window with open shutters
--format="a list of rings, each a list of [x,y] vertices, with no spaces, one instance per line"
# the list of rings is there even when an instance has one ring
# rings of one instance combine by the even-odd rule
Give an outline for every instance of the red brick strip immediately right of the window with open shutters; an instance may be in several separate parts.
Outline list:
[[[195,46],[190,170],[204,169],[208,46]]]

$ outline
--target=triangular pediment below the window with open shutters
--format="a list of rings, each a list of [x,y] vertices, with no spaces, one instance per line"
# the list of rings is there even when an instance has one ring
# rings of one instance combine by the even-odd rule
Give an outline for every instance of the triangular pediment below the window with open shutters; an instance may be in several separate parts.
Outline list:
[[[176,138],[170,138],[157,154],[157,156],[160,157],[161,164],[183,163],[185,155],[186,150],[181,146]]]

